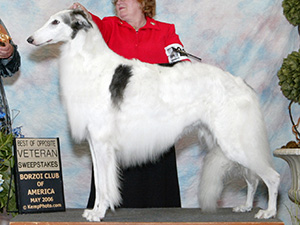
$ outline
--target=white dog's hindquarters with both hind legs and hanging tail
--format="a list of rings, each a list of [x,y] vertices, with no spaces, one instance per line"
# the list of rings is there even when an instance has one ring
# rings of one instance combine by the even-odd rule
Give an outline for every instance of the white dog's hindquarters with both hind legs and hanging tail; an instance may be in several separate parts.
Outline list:
[[[241,87],[245,84],[241,84]],[[199,187],[199,199],[204,211],[213,211],[223,190],[226,173],[242,175],[248,185],[247,199],[235,212],[250,211],[261,178],[269,190],[269,205],[256,218],[276,215],[279,174],[273,169],[272,156],[259,101],[252,91],[246,98],[235,98],[235,106],[223,109],[213,130],[201,129],[199,140],[207,139],[208,153],[204,160]],[[220,109],[221,110],[221,109]],[[210,126],[207,126],[210,127]],[[212,136],[213,135],[213,136]],[[210,138],[207,138],[210,137]]]

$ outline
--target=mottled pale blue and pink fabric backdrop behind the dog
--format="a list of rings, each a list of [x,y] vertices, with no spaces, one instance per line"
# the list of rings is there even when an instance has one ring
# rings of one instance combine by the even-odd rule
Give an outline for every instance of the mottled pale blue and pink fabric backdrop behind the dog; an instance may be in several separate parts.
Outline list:
[[[79,2],[100,17],[114,14],[109,0]],[[287,111],[289,102],[280,91],[276,73],[283,58],[299,48],[299,35],[283,16],[281,2],[161,0],[157,1],[155,17],[176,25],[187,52],[201,57],[203,63],[242,77],[255,89],[260,97],[272,152],[294,139]],[[49,16],[72,3],[72,0],[0,0],[0,15],[22,57],[20,72],[4,79],[10,109],[15,117],[13,127],[22,126],[25,137],[60,138],[66,206],[84,208],[90,188],[91,159],[87,144],[76,144],[70,137],[59,94],[59,46],[37,48],[26,42],[27,37]],[[296,114],[299,113],[297,107],[294,106]],[[195,196],[204,155],[194,135],[177,143],[183,207],[201,207]],[[289,167],[282,159],[274,158],[274,162],[281,174],[278,217],[290,224],[286,208],[293,208],[287,197],[291,185]],[[233,180],[225,188],[220,207],[240,204],[245,193],[245,183]],[[266,207],[266,196],[266,187],[260,185],[255,206]]]

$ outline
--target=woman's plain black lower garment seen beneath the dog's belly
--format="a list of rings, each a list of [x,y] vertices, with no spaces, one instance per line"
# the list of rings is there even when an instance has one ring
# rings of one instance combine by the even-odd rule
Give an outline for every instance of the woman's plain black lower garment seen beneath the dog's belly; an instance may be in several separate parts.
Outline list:
[[[122,171],[123,208],[181,207],[174,146],[157,162]],[[94,174],[88,208],[95,202]]]

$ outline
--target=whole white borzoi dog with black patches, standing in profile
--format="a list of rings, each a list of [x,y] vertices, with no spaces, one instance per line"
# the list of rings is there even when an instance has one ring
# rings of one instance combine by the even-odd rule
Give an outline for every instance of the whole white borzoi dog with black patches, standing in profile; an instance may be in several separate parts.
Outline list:
[[[257,218],[276,215],[279,174],[273,169],[263,115],[253,90],[241,78],[204,63],[164,67],[127,60],[111,51],[83,11],[53,15],[28,42],[64,42],[60,56],[61,93],[72,136],[89,142],[96,200],[83,216],[99,221],[118,206],[120,166],[155,160],[183,134],[197,129],[206,140],[199,187],[203,210],[212,211],[226,172],[239,167],[248,184],[250,211],[261,178],[268,208]]]

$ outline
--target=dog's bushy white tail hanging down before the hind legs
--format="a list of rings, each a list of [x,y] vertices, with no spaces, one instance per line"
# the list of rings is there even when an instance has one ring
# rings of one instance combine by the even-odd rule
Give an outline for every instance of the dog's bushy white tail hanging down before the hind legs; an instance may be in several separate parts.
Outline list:
[[[199,203],[204,212],[214,212],[223,190],[223,180],[233,162],[230,161],[218,145],[210,149],[205,156],[199,185]]]

